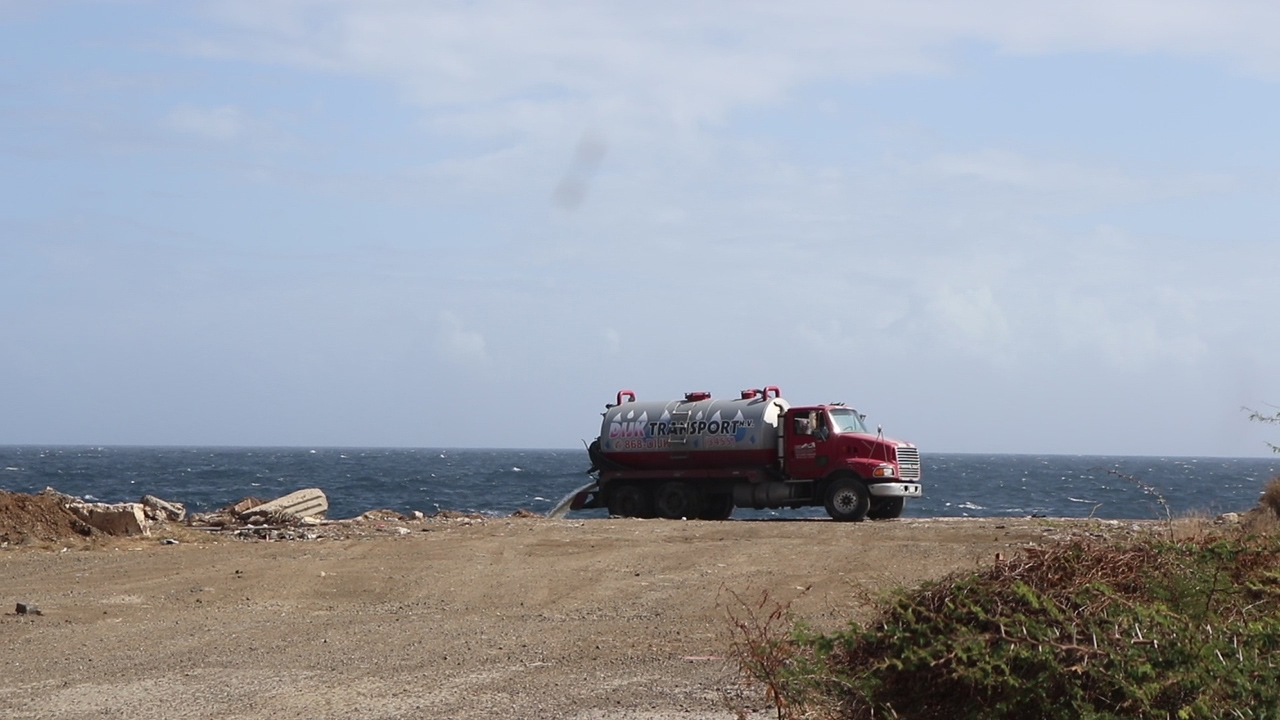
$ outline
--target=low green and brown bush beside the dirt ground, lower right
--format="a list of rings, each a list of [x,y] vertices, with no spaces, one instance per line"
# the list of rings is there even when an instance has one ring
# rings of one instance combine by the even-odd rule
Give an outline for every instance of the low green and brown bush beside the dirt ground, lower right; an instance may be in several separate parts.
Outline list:
[[[790,643],[780,716],[1280,717],[1280,541],[1032,548]]]

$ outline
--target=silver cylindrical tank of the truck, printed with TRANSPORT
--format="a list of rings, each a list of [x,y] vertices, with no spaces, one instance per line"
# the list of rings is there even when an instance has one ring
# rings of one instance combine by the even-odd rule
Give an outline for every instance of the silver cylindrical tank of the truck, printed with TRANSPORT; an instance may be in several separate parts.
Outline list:
[[[632,469],[768,465],[777,461],[787,407],[773,386],[742,391],[735,400],[691,392],[666,402],[637,402],[625,389],[604,413],[600,452]]]

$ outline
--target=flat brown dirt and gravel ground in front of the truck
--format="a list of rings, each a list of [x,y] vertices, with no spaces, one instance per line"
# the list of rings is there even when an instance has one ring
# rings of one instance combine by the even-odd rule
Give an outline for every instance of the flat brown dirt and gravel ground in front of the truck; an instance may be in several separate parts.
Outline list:
[[[829,629],[1029,543],[1149,528],[453,518],[33,538],[0,548],[0,717],[768,717],[728,620],[764,592]]]

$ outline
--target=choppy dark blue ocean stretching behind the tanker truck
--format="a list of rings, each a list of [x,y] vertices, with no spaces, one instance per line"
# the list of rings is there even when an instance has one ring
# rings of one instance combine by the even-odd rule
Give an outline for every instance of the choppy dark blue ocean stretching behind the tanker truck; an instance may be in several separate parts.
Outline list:
[[[1119,457],[922,455],[924,497],[904,518],[1162,519],[1244,511],[1280,475],[1280,456]],[[586,482],[585,450],[0,446],[0,489],[52,487],[102,502],[143,495],[196,512],[317,487],[329,518],[366,510],[548,512]],[[603,518],[603,510],[571,518]],[[733,518],[824,518],[820,507],[742,510]]]

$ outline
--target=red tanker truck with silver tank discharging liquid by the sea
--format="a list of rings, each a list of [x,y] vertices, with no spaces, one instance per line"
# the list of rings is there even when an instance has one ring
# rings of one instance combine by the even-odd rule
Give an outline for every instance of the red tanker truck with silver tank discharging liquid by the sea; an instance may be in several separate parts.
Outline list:
[[[735,507],[826,507],[835,520],[897,518],[920,497],[920,454],[872,433],[844,404],[792,407],[776,386],[713,400],[605,405],[588,446],[595,482],[572,509],[623,518],[724,520]]]

